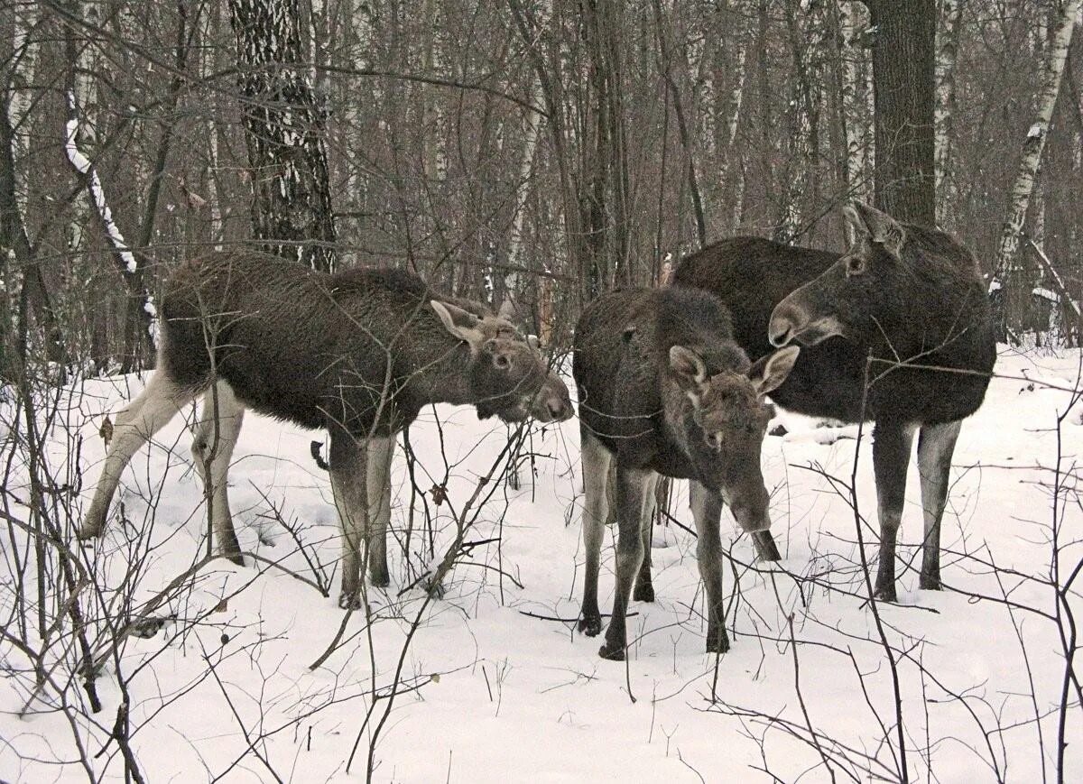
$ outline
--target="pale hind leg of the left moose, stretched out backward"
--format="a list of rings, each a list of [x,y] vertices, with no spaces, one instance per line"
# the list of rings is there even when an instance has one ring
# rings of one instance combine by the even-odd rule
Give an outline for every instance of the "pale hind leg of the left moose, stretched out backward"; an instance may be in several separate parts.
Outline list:
[[[196,394],[197,391],[179,387],[162,370],[155,370],[143,392],[117,416],[102,475],[78,532],[80,539],[104,533],[109,502],[117,492],[125,468],[135,453],[169,423],[181,406],[192,402]]]

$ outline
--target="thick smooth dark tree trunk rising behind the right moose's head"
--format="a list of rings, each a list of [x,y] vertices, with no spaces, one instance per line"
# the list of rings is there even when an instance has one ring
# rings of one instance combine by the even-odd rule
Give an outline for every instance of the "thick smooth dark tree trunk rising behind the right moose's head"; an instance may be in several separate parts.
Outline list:
[[[935,0],[863,0],[873,28],[876,206],[897,220],[936,223]]]

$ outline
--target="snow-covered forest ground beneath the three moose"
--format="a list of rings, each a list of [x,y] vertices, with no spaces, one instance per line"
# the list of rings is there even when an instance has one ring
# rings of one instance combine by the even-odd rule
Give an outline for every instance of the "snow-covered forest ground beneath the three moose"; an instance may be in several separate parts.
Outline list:
[[[1079,387],[1080,361],[1079,353],[1002,352],[996,371],[1008,378],[994,379],[954,457],[942,592],[916,589],[922,522],[912,467],[901,601],[877,605],[898,662],[898,707],[876,615],[863,599],[846,487],[858,452],[857,496],[872,526],[864,537],[873,558],[867,431],[859,441],[857,428],[824,431],[781,417],[790,432],[767,439],[762,460],[784,560],[753,564],[752,543],[728,514],[723,519],[733,646],[717,659],[704,653],[695,541],[675,524],[655,528],[657,601],[631,607],[637,614],[629,619],[635,641],[627,664],[600,659],[600,638],[575,631],[583,553],[573,419],[535,429],[527,442],[534,458],[521,468],[520,489],[504,483],[484,488],[492,496],[466,536],[480,544],[456,564],[443,597],[428,604],[420,588],[407,588],[419,564],[433,560],[421,524],[425,505],[415,497],[409,564],[400,548],[389,548],[392,585],[369,589],[371,623],[354,613],[338,650],[311,671],[343,619],[335,601],[337,575],[326,598],[269,561],[315,583],[330,576],[338,545],[329,484],[309,455],[312,433],[249,414],[234,455],[232,502],[243,547],[268,561],[248,567],[213,561],[156,613],[175,614],[175,620],[149,639],[125,641],[119,665],[135,760],[148,781],[363,780],[371,745],[373,778],[388,782],[867,781],[900,779],[901,734],[914,780],[1042,780],[1054,770],[1065,677],[1056,594],[1044,584],[1058,442],[1066,485],[1057,507],[1064,515],[1061,582],[1083,559],[1075,495],[1083,408],[1058,433],[1057,415],[1071,395],[1044,384]],[[70,472],[69,436],[82,435],[82,506],[101,468],[101,415],[118,408],[139,383],[88,381],[62,406],[49,459],[60,473]],[[60,427],[65,420],[67,434]],[[472,409],[441,407],[410,436],[439,560],[441,545],[454,536],[452,510],[473,494],[507,432],[479,422]],[[95,617],[107,615],[106,602],[127,594],[146,601],[206,551],[188,441],[178,417],[129,468],[122,493],[129,524],[117,523],[114,511],[109,532],[94,546],[96,580],[106,590],[93,592],[96,598],[83,593]],[[430,492],[434,485],[446,486],[447,501],[440,506]],[[412,484],[401,453],[394,487],[393,524],[402,536]],[[27,497],[23,486],[9,491]],[[690,525],[686,498],[681,484],[671,511]],[[10,512],[25,508],[13,502]],[[12,617],[13,541],[21,536],[5,534],[0,544],[8,567],[0,575],[4,623]],[[612,601],[612,554],[608,537],[603,612]],[[144,564],[134,587],[122,579],[131,562]],[[1083,617],[1078,583],[1070,601]],[[117,617],[123,609],[113,604],[108,612]],[[116,661],[107,659],[97,680],[104,703],[97,727],[51,707],[53,690],[31,698],[27,657],[3,641],[0,667],[0,780],[87,780],[87,770],[74,762],[74,729],[94,774],[123,778],[118,745],[107,743],[122,701]],[[56,671],[63,675],[63,666]],[[366,724],[374,690],[381,698]],[[67,694],[82,698],[77,688]],[[1074,705],[1068,717],[1064,780],[1083,781],[1083,714]],[[57,765],[63,761],[70,765]]]

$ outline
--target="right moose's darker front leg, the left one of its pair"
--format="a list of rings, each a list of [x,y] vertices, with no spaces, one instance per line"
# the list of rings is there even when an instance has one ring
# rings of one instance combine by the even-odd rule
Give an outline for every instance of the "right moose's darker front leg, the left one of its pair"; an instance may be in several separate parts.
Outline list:
[[[914,443],[914,428],[908,424],[876,423],[873,440],[873,470],[876,474],[876,499],[879,511],[879,569],[875,596],[896,601],[895,549],[906,497],[906,470]]]

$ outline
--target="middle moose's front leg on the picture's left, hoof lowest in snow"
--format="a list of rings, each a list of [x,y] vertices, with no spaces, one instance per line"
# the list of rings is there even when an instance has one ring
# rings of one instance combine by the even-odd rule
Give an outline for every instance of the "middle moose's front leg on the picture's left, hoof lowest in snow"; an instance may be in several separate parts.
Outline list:
[[[652,471],[622,468],[616,470],[616,517],[619,534],[616,544],[616,590],[613,594],[613,615],[605,631],[605,644],[598,655],[614,662],[623,662],[628,636],[625,615],[631,585],[643,559],[642,520],[647,506],[648,489]]]

